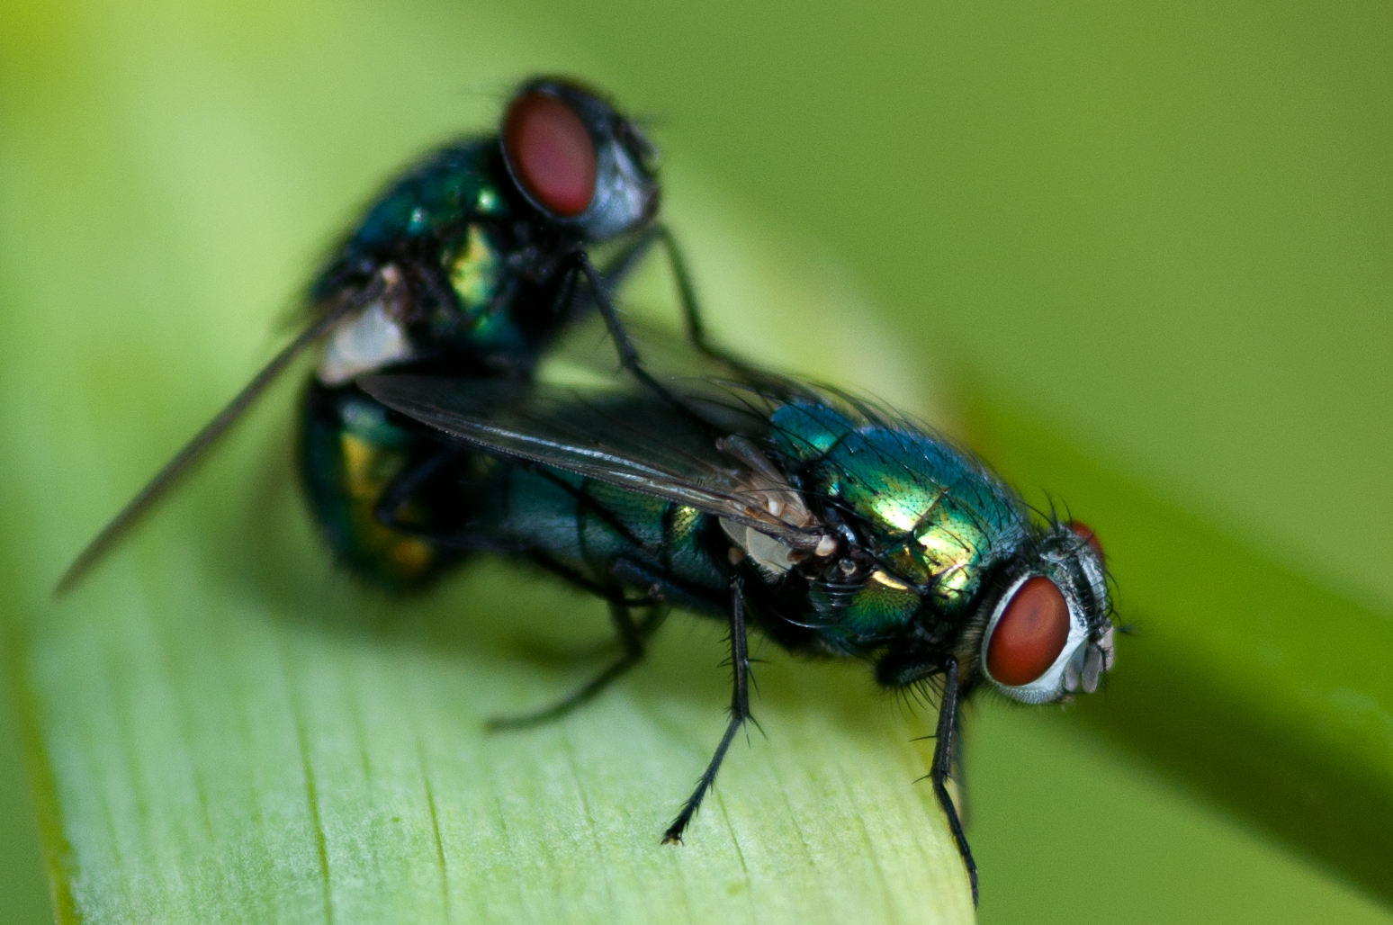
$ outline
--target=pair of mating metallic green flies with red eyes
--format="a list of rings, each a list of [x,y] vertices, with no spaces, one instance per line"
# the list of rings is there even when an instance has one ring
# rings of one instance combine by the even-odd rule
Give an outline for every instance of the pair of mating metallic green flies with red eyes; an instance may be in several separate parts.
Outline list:
[[[1092,691],[1112,667],[1102,552],[1042,522],[943,437],[846,396],[710,350],[671,235],[653,150],[599,95],[525,82],[499,135],[428,156],[369,208],[311,288],[305,330],[74,561],[70,588],[290,361],[323,340],[301,414],[301,472],[336,557],[397,591],[492,552],[609,603],[616,660],[560,716],[637,664],[667,606],[730,627],[731,710],[678,841],[749,719],[747,632],[794,653],[858,658],[889,688],[942,692],[931,777],[976,896],[946,788],[958,705]],[[600,269],[589,248],[612,242]],[[610,300],[666,248],[685,359],[719,378],[653,376]],[[598,315],[624,384],[535,382],[553,343]],[[635,620],[634,612],[646,617]]]

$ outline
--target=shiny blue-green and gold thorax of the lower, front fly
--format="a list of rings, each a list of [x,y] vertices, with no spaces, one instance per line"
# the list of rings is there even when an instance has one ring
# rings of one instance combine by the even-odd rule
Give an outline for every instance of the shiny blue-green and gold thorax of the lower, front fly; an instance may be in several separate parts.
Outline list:
[[[814,605],[855,635],[905,624],[928,599],[951,616],[1028,529],[1020,500],[942,437],[893,422],[855,422],[829,405],[788,404],[775,444],[802,472],[823,514],[850,528],[873,563],[854,591],[815,584]]]

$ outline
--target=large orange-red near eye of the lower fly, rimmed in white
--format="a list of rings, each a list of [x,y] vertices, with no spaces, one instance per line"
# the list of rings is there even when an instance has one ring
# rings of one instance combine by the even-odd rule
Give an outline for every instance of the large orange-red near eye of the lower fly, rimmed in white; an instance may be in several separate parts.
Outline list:
[[[986,644],[986,670],[1007,687],[1038,680],[1068,641],[1068,605],[1049,578],[1031,578],[1011,595]]]

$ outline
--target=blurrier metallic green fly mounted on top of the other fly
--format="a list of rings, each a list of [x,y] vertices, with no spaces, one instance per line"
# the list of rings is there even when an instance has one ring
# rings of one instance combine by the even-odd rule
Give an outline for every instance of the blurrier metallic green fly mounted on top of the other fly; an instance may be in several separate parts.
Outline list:
[[[386,421],[359,376],[415,371],[527,380],[550,343],[598,308],[620,361],[651,387],[610,301],[656,244],[669,258],[691,340],[706,347],[692,287],[659,220],[656,150],[638,124],[573,79],[522,82],[499,130],[426,155],[391,181],[322,266],[308,320],[96,535],[60,578],[64,593],[284,372],[323,344],[301,414],[301,475],[336,557],[391,589],[419,588],[457,559],[380,522],[411,510],[442,468],[433,440]],[[602,267],[591,248],[614,244]],[[415,506],[422,524],[436,514]]]

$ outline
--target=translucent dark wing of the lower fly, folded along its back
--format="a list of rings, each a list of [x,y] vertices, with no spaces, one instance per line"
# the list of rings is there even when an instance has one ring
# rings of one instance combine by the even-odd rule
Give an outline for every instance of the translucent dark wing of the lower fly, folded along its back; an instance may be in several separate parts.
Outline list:
[[[687,504],[800,549],[823,535],[816,525],[780,518],[777,506],[770,513],[759,474],[740,454],[722,451],[717,444],[729,443],[722,436],[744,436],[759,417],[715,391],[684,396],[696,411],[685,415],[649,394],[405,375],[369,376],[358,386],[490,453]],[[706,418],[710,428],[701,423]]]

